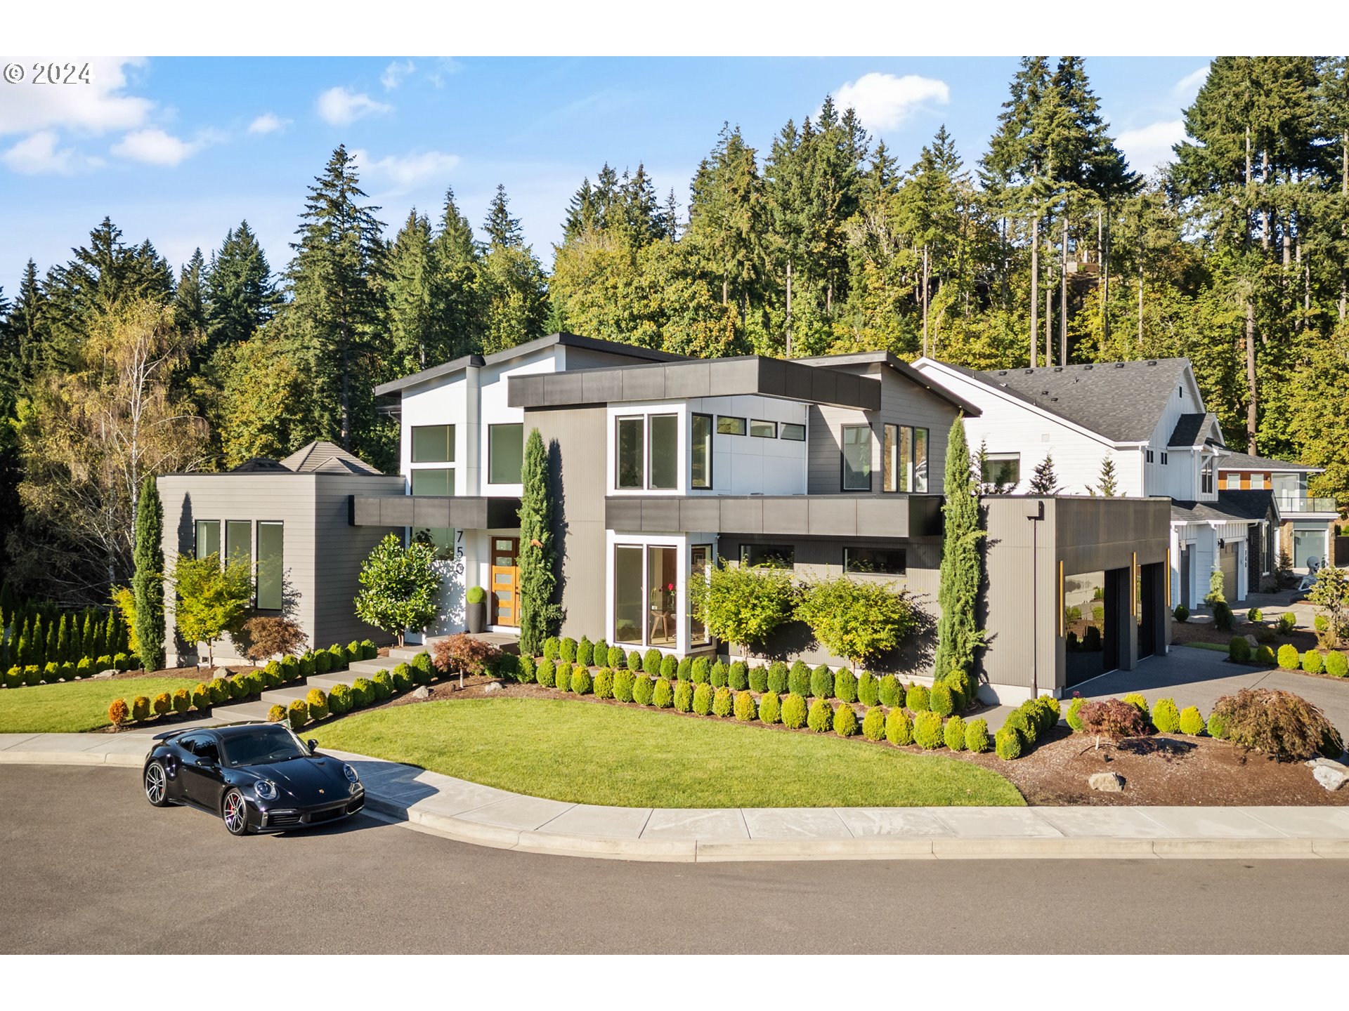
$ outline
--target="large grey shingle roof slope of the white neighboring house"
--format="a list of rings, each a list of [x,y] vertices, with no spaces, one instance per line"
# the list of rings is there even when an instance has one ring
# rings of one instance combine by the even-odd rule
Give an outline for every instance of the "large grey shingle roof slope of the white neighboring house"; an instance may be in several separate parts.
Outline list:
[[[975,372],[943,364],[1112,442],[1147,442],[1190,365],[1151,359]]]

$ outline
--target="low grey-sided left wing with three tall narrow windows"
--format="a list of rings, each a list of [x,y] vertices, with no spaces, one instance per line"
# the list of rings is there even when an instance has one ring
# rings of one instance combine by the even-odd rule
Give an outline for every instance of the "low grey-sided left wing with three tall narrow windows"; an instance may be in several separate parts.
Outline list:
[[[294,617],[310,646],[391,638],[356,617],[356,576],[390,530],[351,527],[352,495],[401,495],[403,479],[382,474],[332,442],[310,442],[285,460],[254,458],[224,473],[165,474],[165,623],[170,667],[206,658],[174,635],[173,569],[181,554],[239,558],[254,570],[254,607]],[[217,661],[239,659],[227,638]]]

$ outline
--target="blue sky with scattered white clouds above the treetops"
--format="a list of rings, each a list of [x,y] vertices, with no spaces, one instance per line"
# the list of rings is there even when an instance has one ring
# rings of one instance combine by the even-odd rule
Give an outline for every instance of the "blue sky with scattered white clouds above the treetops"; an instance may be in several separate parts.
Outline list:
[[[1178,140],[1207,57],[1087,59],[1136,168]],[[247,218],[272,268],[305,187],[339,143],[390,233],[447,186],[475,226],[498,182],[545,266],[567,200],[606,160],[645,162],[683,206],[723,120],[766,150],[826,93],[909,164],[947,124],[973,163],[1014,58],[154,58],[100,59],[90,85],[0,84],[0,284],[69,257],[105,214],[171,263]],[[28,67],[31,77],[31,67]]]

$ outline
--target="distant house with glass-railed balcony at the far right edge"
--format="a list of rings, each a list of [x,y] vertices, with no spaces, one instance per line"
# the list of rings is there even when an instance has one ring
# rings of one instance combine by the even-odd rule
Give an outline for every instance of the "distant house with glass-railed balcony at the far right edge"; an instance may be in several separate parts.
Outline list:
[[[1307,479],[1323,469],[1249,453],[1228,453],[1218,461],[1219,489],[1273,491],[1280,522],[1272,566],[1278,565],[1280,554],[1288,555],[1295,572],[1307,572],[1327,561],[1334,563],[1340,510],[1333,497],[1322,499],[1307,492]]]

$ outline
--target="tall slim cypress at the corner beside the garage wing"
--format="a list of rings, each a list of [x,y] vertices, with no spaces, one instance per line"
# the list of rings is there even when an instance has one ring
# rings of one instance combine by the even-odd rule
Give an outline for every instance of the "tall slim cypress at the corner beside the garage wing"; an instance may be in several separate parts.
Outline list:
[[[946,443],[946,528],[942,543],[942,573],[938,603],[942,615],[936,625],[936,655],[932,674],[942,679],[974,673],[974,651],[983,642],[975,625],[979,597],[979,500],[970,474],[970,448],[965,441],[965,419],[956,418]]]

